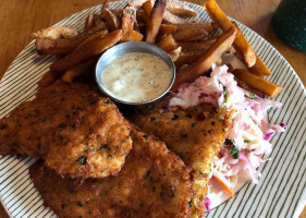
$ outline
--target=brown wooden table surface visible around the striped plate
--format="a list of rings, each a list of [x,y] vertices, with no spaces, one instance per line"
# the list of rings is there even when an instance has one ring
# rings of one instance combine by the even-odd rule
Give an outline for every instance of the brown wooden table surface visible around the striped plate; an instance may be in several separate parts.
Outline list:
[[[187,0],[203,4],[205,0]],[[217,0],[231,17],[247,25],[276,47],[306,84],[306,53],[285,45],[271,27],[271,16],[281,0]],[[30,33],[46,28],[101,0],[0,0],[0,78],[14,58],[30,41]],[[0,205],[0,217],[8,218]],[[306,209],[299,218],[306,218]]]

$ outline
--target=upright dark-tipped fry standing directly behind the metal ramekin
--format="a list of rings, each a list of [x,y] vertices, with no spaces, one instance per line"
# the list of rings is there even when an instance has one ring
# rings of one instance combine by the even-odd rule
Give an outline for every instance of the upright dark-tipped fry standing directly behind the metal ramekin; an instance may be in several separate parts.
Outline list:
[[[167,0],[156,0],[154,4],[150,19],[147,23],[146,36],[145,36],[145,40],[149,44],[155,43],[156,36],[159,31],[159,26],[162,22],[166,5],[167,5]]]

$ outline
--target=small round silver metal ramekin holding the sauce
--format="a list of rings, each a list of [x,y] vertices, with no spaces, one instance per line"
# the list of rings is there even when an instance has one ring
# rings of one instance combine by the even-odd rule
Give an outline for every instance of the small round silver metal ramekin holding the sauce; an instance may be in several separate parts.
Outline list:
[[[119,99],[119,98],[112,96],[111,93],[109,93],[108,89],[103,86],[102,78],[103,78],[103,72],[105,72],[105,69],[107,68],[107,65],[115,58],[123,56],[125,53],[130,53],[130,52],[151,53],[151,55],[155,55],[155,56],[161,58],[169,65],[169,68],[172,71],[172,78],[169,84],[169,87],[160,96],[158,96],[154,99],[147,100],[147,101],[142,101],[142,102],[125,101],[125,100],[122,100],[122,99]],[[162,96],[164,96],[169,92],[169,89],[171,88],[171,86],[174,83],[174,80],[175,80],[175,66],[174,66],[172,59],[167,55],[167,52],[164,52],[157,46],[147,44],[147,43],[143,43],[143,41],[124,43],[124,44],[120,44],[118,46],[114,46],[114,47],[108,49],[99,58],[97,65],[96,65],[96,82],[98,84],[98,87],[101,89],[101,92],[103,94],[106,94],[108,97],[110,97],[114,101],[125,104],[125,105],[144,105],[144,104],[149,104],[149,102],[160,99]]]

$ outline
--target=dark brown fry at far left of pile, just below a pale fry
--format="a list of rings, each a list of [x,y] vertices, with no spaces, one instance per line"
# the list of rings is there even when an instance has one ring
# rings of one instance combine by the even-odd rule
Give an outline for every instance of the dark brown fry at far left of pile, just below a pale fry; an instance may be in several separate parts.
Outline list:
[[[35,41],[35,46],[39,55],[65,55],[72,52],[82,40],[81,38],[38,38]]]

